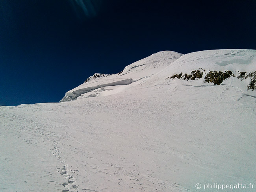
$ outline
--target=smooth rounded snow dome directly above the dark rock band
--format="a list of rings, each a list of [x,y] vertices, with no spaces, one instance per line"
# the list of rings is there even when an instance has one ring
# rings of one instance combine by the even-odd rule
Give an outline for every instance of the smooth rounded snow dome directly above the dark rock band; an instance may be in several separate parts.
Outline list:
[[[161,71],[163,76],[174,73],[189,73],[203,68],[208,70],[231,70],[237,72],[256,70],[256,50],[209,50],[183,55],[171,66]],[[159,75],[158,75],[159,76]]]

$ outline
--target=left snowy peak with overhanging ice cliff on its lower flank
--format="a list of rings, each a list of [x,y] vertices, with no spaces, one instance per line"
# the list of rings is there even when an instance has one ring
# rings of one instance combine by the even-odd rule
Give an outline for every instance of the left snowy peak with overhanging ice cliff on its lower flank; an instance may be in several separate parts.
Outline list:
[[[94,94],[95,90],[100,87],[129,85],[133,81],[148,78],[168,66],[176,59],[180,58],[181,55],[183,54],[172,51],[158,52],[126,66],[119,74],[112,74],[110,76],[94,74],[88,78],[89,81],[68,91],[60,102],[74,100],[81,94],[85,94],[87,92],[92,92],[92,94]],[[96,78],[93,78],[95,75]]]

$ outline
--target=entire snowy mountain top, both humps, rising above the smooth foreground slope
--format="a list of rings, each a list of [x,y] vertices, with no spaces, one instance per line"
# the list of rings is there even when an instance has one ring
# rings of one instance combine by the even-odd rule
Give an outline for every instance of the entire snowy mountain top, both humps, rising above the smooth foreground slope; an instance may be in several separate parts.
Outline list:
[[[195,81],[193,79],[180,78],[175,80],[169,78],[173,74],[190,74],[195,70],[201,70],[202,72],[202,77],[197,78]],[[220,77],[212,77],[212,81],[205,81],[206,76],[214,72],[216,75],[219,71],[223,73],[230,71],[231,73],[229,72],[229,76],[221,80],[219,79]],[[164,51],[126,66],[119,74],[104,77],[99,75],[99,78],[83,83],[68,91],[61,102],[74,100],[82,94],[86,95],[82,95],[82,98],[87,96],[106,96],[107,94],[116,94],[122,91],[137,89],[138,87],[145,88],[156,85],[211,86],[216,84],[216,79],[218,85],[226,84],[239,87],[245,94],[256,96],[256,91],[248,89],[250,83],[255,87],[255,71],[255,50],[209,50],[186,55]],[[239,78],[241,72],[247,72],[247,76],[249,76],[249,73],[255,72],[255,74],[249,78]],[[99,90],[101,87],[102,89]],[[107,89],[104,87],[107,87]],[[105,90],[107,92],[104,92]]]

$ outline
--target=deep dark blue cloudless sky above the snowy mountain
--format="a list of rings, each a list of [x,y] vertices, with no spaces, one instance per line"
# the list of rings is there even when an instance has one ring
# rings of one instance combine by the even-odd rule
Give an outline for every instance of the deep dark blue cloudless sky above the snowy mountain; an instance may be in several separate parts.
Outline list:
[[[255,0],[0,0],[0,105],[59,102],[153,53],[256,49]]]

